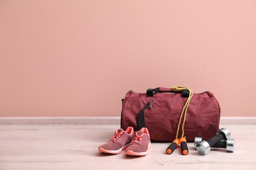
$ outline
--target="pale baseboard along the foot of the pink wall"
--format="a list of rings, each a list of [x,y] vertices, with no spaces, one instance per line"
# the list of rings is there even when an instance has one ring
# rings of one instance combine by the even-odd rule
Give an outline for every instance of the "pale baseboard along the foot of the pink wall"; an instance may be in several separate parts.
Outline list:
[[[0,126],[12,125],[117,125],[112,117],[0,117]],[[256,117],[221,117],[221,125],[256,125]]]

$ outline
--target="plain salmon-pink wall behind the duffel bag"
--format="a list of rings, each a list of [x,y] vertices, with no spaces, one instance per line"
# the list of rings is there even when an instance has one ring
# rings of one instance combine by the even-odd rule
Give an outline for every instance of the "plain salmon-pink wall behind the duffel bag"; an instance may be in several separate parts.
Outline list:
[[[132,89],[256,114],[256,1],[0,1],[0,116],[119,116]]]

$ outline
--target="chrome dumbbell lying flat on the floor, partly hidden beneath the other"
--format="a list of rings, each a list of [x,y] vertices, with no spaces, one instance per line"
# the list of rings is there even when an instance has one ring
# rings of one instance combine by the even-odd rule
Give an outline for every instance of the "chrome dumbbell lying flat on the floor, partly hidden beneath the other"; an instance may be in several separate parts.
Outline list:
[[[195,137],[194,146],[202,142],[202,137]],[[212,148],[226,148],[226,152],[234,152],[234,139],[226,139],[226,141],[219,141],[219,143],[211,146]]]

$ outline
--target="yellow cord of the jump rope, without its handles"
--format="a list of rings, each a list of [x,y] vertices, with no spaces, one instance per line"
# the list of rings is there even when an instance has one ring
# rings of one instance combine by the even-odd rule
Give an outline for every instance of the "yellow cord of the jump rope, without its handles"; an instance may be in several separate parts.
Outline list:
[[[181,111],[181,115],[180,115],[180,118],[179,118],[179,124],[178,124],[178,127],[177,127],[177,133],[176,133],[176,139],[178,139],[183,114],[184,114],[184,118],[183,118],[183,122],[182,122],[182,135],[181,135],[181,137],[184,137],[184,125],[185,125],[185,122],[186,122],[186,111],[188,110],[188,105],[189,105],[190,100],[192,98],[193,92],[192,92],[192,90],[190,90],[190,88],[186,88],[184,86],[173,86],[171,89],[174,90],[174,91],[188,90],[188,92],[189,92],[188,99],[186,100],[186,103],[185,103],[185,105],[184,105],[184,107]]]

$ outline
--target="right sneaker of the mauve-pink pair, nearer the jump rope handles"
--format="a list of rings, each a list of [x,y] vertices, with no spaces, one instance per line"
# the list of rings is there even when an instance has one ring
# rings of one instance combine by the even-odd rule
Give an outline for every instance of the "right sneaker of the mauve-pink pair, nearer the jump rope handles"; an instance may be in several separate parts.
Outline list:
[[[150,135],[146,127],[135,132],[135,139],[125,150],[125,154],[131,156],[146,156],[150,148]]]

